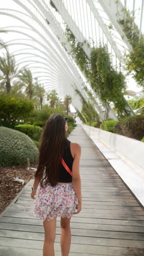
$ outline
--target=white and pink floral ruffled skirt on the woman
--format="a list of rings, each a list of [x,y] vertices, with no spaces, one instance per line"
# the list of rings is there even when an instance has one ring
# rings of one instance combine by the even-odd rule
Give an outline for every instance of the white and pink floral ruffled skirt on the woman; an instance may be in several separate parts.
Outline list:
[[[76,212],[78,200],[72,183],[57,184],[55,187],[47,184],[44,188],[39,185],[34,204],[34,216],[44,222],[56,216],[70,218]]]

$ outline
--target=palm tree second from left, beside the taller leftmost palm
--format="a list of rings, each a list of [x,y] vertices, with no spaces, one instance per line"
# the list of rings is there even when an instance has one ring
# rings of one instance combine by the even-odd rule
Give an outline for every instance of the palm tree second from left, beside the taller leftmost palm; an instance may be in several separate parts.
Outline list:
[[[29,69],[24,69],[19,75],[17,75],[17,77],[20,79],[19,86],[21,88],[26,88],[26,94],[29,97],[29,100],[32,100],[35,83],[33,82],[31,71]]]

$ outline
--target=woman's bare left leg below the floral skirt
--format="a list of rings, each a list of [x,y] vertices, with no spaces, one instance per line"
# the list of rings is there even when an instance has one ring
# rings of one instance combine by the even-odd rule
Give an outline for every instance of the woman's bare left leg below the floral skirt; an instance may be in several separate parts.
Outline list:
[[[43,222],[45,230],[43,256],[55,256],[54,242],[56,237],[56,220],[57,218],[54,218],[50,221],[46,219]]]

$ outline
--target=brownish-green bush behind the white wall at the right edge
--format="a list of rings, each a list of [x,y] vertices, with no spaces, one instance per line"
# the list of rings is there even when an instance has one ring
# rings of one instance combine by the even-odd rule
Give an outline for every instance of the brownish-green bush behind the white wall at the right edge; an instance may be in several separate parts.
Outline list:
[[[118,127],[124,136],[138,139],[140,141],[144,135],[144,116],[133,115],[133,117],[124,118],[119,122]],[[115,127],[115,132],[119,133],[117,126]]]

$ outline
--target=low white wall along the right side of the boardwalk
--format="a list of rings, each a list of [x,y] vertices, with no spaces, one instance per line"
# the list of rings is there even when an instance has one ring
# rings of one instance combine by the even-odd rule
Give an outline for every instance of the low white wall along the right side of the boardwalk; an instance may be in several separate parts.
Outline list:
[[[144,175],[144,143],[133,138],[128,138],[116,133],[83,125],[83,129],[89,136],[95,136],[124,161]],[[137,170],[138,171],[138,170]]]

